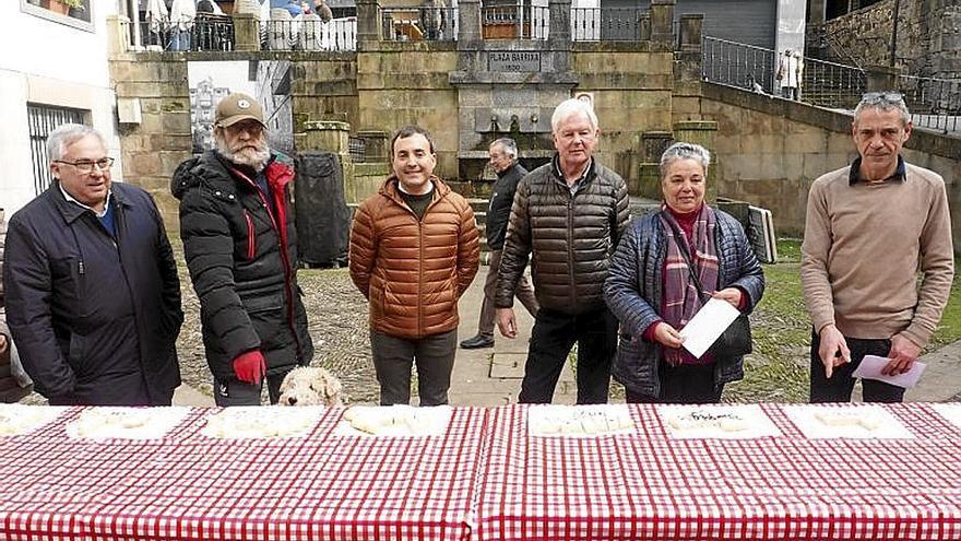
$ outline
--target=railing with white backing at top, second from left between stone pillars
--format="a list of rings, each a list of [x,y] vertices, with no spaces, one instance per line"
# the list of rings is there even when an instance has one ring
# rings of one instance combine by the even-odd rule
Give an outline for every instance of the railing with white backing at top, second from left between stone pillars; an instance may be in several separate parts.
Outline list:
[[[357,20],[319,16],[302,20],[271,20],[262,24],[264,50],[356,50]]]

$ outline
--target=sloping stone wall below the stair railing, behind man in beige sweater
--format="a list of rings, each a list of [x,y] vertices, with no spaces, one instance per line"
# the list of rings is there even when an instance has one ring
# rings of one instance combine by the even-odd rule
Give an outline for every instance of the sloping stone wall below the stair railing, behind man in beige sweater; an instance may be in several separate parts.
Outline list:
[[[810,184],[857,156],[852,118],[842,113],[711,83],[703,85],[700,113],[717,122],[719,195],[771,209],[779,234],[800,234]],[[915,129],[903,154],[945,178],[958,247],[961,138]]]

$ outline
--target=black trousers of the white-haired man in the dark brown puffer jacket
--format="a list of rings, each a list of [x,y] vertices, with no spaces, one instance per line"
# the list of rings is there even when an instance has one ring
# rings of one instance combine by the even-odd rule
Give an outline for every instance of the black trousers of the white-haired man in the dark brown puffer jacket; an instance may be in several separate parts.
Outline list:
[[[570,315],[541,308],[521,384],[522,403],[549,403],[567,356],[578,344],[578,403],[607,403],[610,362],[617,351],[617,318],[603,307]]]

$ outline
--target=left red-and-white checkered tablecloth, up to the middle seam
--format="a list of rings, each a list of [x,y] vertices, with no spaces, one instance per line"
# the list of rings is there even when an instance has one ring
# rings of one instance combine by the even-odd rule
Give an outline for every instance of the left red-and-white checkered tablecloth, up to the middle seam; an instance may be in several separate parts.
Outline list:
[[[2,540],[462,540],[476,508],[484,409],[453,412],[443,436],[333,434],[343,409],[309,437],[214,439],[213,410],[167,437],[67,435],[73,409],[23,436],[0,437]]]

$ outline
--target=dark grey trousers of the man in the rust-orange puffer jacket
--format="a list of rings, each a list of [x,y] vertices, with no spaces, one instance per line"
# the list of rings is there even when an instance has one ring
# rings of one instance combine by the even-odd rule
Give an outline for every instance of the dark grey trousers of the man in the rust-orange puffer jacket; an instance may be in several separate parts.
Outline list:
[[[380,384],[380,404],[411,403],[411,368],[415,362],[420,405],[446,404],[456,348],[456,329],[416,340],[371,329],[370,350]]]

